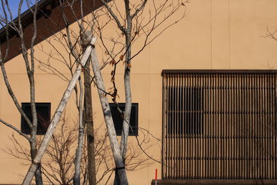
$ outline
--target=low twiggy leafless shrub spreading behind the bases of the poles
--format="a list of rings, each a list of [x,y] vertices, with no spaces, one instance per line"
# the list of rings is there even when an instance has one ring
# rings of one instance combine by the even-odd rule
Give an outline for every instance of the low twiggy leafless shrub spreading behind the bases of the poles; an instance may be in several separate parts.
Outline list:
[[[46,149],[46,157],[42,160],[42,173],[46,177],[44,182],[47,184],[72,184],[75,174],[75,167],[73,165],[75,161],[74,147],[78,145],[78,124],[75,122],[76,121],[70,121],[68,116],[64,113],[60,125],[57,127],[57,132],[53,134],[51,142]],[[96,128],[95,136],[96,184],[107,184],[111,182],[110,177],[111,174],[114,173],[114,161],[105,128],[101,126]],[[31,161],[30,151],[28,148],[21,145],[21,142],[14,134],[12,134],[10,140],[13,143],[13,147],[8,146],[4,151],[17,159]],[[38,146],[41,141],[42,139],[39,138],[37,141]],[[143,150],[147,150],[151,147],[148,136],[143,138],[140,143]],[[141,148],[135,145],[129,147],[126,159],[127,170],[139,170],[149,165],[148,157],[142,157],[143,151]],[[84,143],[82,155],[80,165],[82,177],[80,179],[82,179],[82,184],[86,184],[88,166],[86,143]]]

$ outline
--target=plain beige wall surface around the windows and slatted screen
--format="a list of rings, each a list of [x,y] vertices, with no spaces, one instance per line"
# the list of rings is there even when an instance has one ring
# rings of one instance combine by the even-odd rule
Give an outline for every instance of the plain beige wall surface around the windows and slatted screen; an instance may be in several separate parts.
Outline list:
[[[132,62],[132,98],[139,103],[139,127],[161,138],[161,70],[162,69],[276,69],[277,42],[262,37],[267,28],[277,28],[276,0],[193,0],[188,4],[186,17],[150,44]],[[46,42],[42,45],[47,47]],[[135,46],[134,46],[135,47]],[[39,52],[39,51],[38,51]],[[21,56],[6,64],[10,83],[19,102],[28,102],[28,80]],[[110,71],[104,71],[110,87]],[[64,73],[67,73],[64,71]],[[68,74],[66,74],[68,76]],[[37,70],[37,102],[51,102],[53,112],[60,101],[66,82]],[[124,102],[123,69],[116,75],[120,99]],[[20,126],[20,116],[12,104],[0,77],[0,117]],[[74,99],[74,98],[73,98]],[[73,99],[66,108],[75,112]],[[95,122],[102,124],[102,114],[96,89],[93,89]],[[12,130],[0,125],[0,148],[10,146]],[[141,132],[139,133],[141,135]],[[22,142],[25,143],[24,139]],[[130,142],[135,142],[130,137]],[[155,159],[161,157],[161,143],[146,150]],[[0,184],[21,183],[28,166],[0,150]],[[150,184],[154,169],[161,164],[149,161],[150,166],[128,173],[130,184]]]

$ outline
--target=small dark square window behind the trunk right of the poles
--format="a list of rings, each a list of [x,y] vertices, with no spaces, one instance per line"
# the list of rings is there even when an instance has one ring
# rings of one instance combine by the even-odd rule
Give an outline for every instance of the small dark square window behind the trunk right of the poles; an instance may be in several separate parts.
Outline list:
[[[120,107],[121,110],[124,111],[125,103],[118,103],[118,106]],[[114,127],[116,128],[116,135],[121,136],[123,117],[116,109],[116,105],[114,103],[109,103],[109,107],[111,108],[111,115],[113,117]],[[138,135],[138,117],[139,117],[139,103],[132,103],[130,123],[129,123],[132,129],[129,128],[129,136]]]

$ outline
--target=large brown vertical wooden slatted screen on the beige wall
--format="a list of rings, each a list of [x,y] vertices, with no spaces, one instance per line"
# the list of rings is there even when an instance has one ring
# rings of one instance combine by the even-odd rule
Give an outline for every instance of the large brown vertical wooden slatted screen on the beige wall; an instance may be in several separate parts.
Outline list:
[[[163,179],[277,179],[276,71],[162,75]]]

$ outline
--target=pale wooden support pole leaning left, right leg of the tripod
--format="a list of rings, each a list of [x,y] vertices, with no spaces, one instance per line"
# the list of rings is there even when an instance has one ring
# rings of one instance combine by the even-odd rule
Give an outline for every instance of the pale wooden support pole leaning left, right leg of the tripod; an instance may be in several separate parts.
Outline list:
[[[93,73],[94,73],[95,80],[96,80],[96,86],[98,88],[98,95],[100,98],[102,112],[104,114],[105,123],[106,123],[107,131],[109,134],[109,142],[111,143],[111,150],[114,155],[114,161],[116,164],[116,173],[118,175],[120,184],[127,185],[128,180],[127,180],[125,165],[124,165],[124,162],[123,162],[123,159],[121,156],[119,143],[116,138],[116,130],[114,128],[114,121],[111,117],[109,101],[105,94],[105,85],[104,85],[104,81],[102,79],[102,74],[100,72],[100,67],[99,67],[98,59],[96,57],[95,49],[93,49],[91,51],[91,64],[92,64],[92,69],[93,69]]]

